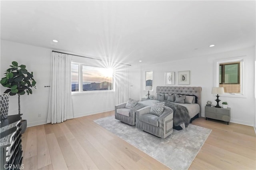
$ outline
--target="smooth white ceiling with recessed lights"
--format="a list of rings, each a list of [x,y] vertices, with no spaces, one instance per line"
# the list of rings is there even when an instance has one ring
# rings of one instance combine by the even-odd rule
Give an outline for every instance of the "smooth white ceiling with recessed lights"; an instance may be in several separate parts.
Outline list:
[[[160,63],[254,46],[255,2],[1,0],[1,39]]]

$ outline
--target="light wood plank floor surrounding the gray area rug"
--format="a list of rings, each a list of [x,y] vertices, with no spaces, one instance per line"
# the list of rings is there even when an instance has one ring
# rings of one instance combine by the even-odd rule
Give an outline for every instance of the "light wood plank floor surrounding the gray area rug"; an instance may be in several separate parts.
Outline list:
[[[168,169],[93,122],[109,115],[114,112],[27,128],[22,134],[24,169]],[[204,118],[192,124],[212,132],[189,169],[256,169],[253,127]]]

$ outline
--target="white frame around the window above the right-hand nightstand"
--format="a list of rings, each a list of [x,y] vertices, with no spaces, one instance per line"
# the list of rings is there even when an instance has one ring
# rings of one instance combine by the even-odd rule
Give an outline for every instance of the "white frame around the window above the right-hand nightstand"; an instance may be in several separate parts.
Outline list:
[[[225,93],[222,96],[224,97],[242,97],[246,98],[246,88],[245,82],[246,82],[246,68],[244,67],[244,64],[246,63],[246,56],[241,57],[233,57],[233,58],[227,58],[227,59],[220,59],[215,60],[214,62],[214,87],[219,87],[220,85],[220,64],[222,63],[235,63],[240,62],[240,93]]]

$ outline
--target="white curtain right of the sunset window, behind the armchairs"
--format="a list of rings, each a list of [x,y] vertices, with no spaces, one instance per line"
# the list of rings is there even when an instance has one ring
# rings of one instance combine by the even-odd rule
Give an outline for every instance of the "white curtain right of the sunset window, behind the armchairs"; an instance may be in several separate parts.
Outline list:
[[[115,71],[116,105],[128,101],[128,67],[127,65],[122,65]]]

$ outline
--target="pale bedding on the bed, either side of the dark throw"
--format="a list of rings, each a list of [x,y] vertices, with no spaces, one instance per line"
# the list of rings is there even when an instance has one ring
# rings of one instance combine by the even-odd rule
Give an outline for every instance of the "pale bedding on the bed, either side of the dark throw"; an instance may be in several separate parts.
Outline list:
[[[159,102],[158,100],[145,100],[145,101],[139,101],[138,103],[141,103],[145,106],[152,106],[152,103]],[[196,116],[200,112],[200,106],[195,104],[188,104],[188,103],[176,103],[178,105],[182,105],[188,109],[188,114],[190,115],[190,118]]]

